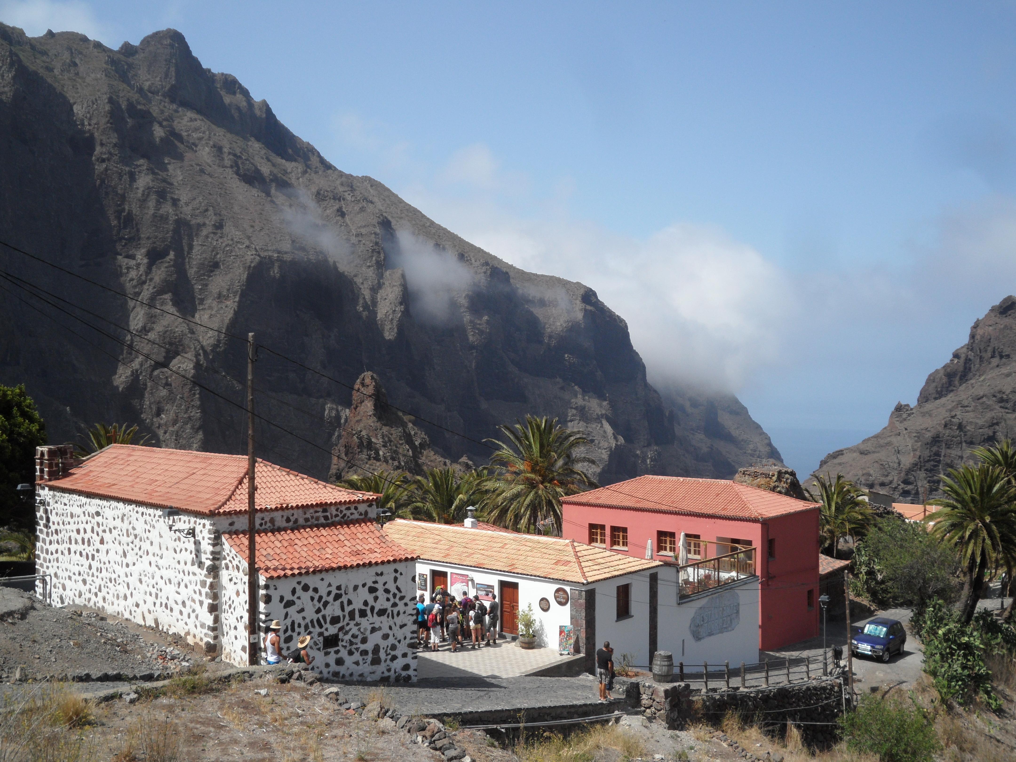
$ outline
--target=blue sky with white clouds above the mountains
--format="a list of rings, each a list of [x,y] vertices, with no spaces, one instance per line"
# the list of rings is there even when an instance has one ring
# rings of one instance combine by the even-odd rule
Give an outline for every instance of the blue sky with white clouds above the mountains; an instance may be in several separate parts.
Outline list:
[[[809,472],[1016,292],[1016,3],[0,0],[172,26],[336,167],[596,290]]]

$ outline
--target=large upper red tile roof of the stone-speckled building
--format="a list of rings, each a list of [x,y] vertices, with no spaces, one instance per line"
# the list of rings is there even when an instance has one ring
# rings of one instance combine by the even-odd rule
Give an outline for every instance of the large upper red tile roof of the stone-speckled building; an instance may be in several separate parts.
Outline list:
[[[343,490],[260,458],[258,510],[366,503],[372,493]],[[47,487],[214,515],[247,510],[247,457],[162,447],[111,445]]]

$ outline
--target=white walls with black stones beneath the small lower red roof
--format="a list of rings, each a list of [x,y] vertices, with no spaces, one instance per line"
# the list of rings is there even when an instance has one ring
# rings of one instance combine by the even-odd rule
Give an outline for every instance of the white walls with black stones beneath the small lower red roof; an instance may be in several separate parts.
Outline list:
[[[247,564],[229,544],[223,555],[223,658],[246,663]],[[259,575],[259,637],[277,619],[282,653],[310,635],[313,669],[326,678],[415,681],[412,573],[414,563],[406,561],[293,577]],[[325,649],[324,638],[335,634],[338,646]]]

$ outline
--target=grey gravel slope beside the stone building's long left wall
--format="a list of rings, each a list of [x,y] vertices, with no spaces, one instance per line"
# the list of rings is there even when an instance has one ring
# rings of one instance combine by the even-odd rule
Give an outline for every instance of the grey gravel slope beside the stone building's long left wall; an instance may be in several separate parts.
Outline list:
[[[0,587],[0,681],[161,680],[203,659],[182,638]]]

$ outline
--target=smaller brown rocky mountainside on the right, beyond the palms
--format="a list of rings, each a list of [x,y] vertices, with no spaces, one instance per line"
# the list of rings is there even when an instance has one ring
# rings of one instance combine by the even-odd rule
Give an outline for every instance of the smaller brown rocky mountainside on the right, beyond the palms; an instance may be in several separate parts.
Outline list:
[[[971,448],[1016,435],[1014,355],[1016,297],[1006,297],[928,377],[916,405],[899,402],[882,431],[826,455],[816,473],[839,472],[902,502],[939,497],[939,475],[969,462]]]

